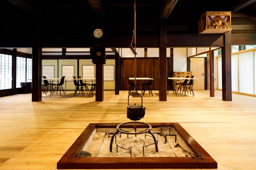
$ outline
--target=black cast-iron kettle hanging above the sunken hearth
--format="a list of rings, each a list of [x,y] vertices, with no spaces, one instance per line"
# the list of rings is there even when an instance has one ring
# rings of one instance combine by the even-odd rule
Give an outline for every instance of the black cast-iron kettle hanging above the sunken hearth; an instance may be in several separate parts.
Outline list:
[[[134,94],[134,93],[141,96],[141,94],[138,92],[132,92],[129,94],[128,106],[127,106],[127,118],[133,121],[137,121],[137,120],[141,120],[144,117],[146,108],[142,106],[142,96],[141,96],[141,104],[136,104],[136,103],[129,104],[129,97],[131,94]]]

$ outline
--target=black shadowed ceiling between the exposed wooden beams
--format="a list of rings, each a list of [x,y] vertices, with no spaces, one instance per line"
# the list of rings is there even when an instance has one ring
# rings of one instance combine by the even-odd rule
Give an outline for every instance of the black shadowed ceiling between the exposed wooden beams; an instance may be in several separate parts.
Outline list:
[[[40,16],[42,35],[88,35],[96,25],[103,25],[105,34],[130,35],[133,30],[133,0],[102,0],[104,16],[97,16],[86,0],[22,0]],[[197,34],[198,20],[205,11],[230,11],[245,0],[179,0],[167,18],[167,34]],[[137,34],[158,34],[159,16],[165,1],[137,0]],[[238,12],[255,16],[256,2]],[[6,35],[30,35],[37,20],[8,0],[0,1],[2,26]]]

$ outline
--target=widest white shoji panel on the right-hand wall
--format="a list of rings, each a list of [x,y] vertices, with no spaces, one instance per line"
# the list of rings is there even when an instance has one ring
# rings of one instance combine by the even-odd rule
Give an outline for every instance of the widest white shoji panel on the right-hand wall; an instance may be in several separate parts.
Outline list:
[[[253,51],[239,54],[239,92],[253,94]]]

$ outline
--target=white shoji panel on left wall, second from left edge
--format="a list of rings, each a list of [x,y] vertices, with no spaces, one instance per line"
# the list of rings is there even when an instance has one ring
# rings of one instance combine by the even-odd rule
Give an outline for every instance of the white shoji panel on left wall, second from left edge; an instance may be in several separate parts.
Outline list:
[[[26,82],[26,58],[16,57],[16,60],[16,88],[19,88],[20,82]]]

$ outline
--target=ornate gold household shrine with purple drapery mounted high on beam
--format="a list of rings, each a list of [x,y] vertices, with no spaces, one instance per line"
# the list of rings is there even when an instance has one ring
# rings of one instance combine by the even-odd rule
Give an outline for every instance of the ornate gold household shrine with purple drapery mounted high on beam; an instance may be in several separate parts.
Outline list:
[[[231,30],[231,11],[206,11],[198,21],[199,34],[221,34]]]

